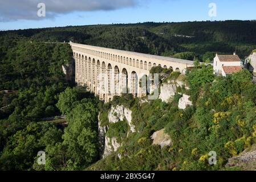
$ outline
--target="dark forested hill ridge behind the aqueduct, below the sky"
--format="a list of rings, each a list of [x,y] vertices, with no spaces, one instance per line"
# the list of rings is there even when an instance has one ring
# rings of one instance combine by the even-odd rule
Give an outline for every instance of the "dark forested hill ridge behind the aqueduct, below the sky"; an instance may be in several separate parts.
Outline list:
[[[230,54],[237,49],[238,55],[243,59],[256,48],[256,22],[228,20],[68,26],[2,31],[0,36],[43,42],[71,40],[163,56],[194,52],[194,59],[199,60],[212,59],[216,52]]]

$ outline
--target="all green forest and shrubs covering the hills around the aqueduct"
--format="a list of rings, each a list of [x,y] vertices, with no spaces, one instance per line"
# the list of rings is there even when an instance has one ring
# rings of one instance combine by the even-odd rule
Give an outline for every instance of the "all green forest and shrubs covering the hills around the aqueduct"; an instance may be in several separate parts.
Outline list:
[[[254,21],[0,31],[0,169],[226,169],[228,158],[256,142],[256,87],[251,73],[215,77],[210,65],[202,65],[184,76],[190,90],[179,88],[168,104],[161,100],[141,104],[131,94],[104,104],[66,80],[62,65],[71,63],[72,50],[59,42],[206,61],[216,52],[235,50],[245,58],[256,49],[255,35]],[[179,76],[156,70],[167,74],[166,78]],[[193,102],[185,110],[177,107],[182,93],[189,94]],[[123,140],[123,144],[117,152],[100,159],[98,114],[103,125],[108,125],[109,108],[120,104],[132,110],[132,123],[139,132],[126,138],[129,126],[125,122],[113,125],[107,135]],[[58,119],[44,119],[59,115],[66,116],[63,122],[67,126],[56,123]],[[171,147],[151,144],[150,136],[160,129],[172,138]],[[211,150],[221,154],[215,166],[206,163]],[[36,162],[38,151],[46,152],[45,166]]]

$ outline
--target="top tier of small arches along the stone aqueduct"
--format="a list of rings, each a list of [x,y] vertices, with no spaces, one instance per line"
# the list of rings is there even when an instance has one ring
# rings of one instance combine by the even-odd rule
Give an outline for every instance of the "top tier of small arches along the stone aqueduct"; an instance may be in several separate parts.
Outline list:
[[[116,49],[87,46],[83,44],[71,43],[74,57],[87,60],[91,55],[105,60],[115,61],[116,63],[126,64],[131,67],[150,71],[152,67],[160,65],[162,68],[171,68],[174,71],[184,71],[187,67],[193,66],[193,61],[174,59],[155,55],[146,55],[142,53],[120,51]],[[95,49],[94,49],[95,48]],[[97,50],[100,49],[101,51]],[[110,50],[109,52],[107,52]],[[116,53],[113,53],[116,52]]]

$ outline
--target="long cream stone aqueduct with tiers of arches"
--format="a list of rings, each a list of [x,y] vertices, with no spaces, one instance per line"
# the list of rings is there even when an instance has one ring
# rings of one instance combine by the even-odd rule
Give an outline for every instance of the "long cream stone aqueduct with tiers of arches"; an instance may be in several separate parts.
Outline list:
[[[72,42],[70,45],[75,59],[75,82],[87,86],[88,91],[107,102],[113,96],[120,96],[125,92],[137,97],[144,96],[139,80],[144,75],[148,76],[152,67],[160,65],[181,73],[186,68],[193,67],[193,61],[189,60]]]

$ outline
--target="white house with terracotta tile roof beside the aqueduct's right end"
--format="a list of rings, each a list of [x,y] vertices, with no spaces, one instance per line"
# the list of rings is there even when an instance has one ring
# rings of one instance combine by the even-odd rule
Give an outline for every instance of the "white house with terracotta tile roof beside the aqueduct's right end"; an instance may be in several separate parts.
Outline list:
[[[242,61],[234,55],[217,55],[213,60],[213,69],[216,75],[226,76],[242,70]]]

